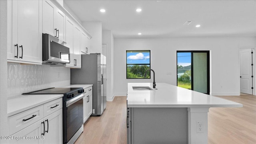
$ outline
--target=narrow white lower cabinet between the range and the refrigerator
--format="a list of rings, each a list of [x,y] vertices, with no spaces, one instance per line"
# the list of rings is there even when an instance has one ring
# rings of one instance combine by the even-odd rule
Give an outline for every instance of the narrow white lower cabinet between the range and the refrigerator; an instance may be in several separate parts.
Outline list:
[[[84,89],[84,123],[89,119],[92,115],[92,87]]]

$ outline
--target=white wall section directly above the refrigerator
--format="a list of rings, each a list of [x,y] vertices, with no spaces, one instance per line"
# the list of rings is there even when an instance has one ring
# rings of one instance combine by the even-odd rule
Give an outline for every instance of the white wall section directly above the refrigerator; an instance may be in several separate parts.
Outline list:
[[[90,53],[102,53],[102,22],[83,21],[82,26],[90,33]]]

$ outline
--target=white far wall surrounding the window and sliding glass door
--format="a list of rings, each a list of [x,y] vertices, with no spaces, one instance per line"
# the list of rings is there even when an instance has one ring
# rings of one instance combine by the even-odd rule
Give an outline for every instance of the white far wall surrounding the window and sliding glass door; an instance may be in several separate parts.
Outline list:
[[[239,48],[256,47],[255,41],[255,37],[115,38],[114,95],[126,95],[128,82],[152,82],[152,79],[126,79],[126,50],[151,50],[156,82],[173,85],[176,85],[176,51],[210,50],[211,94],[240,95]]]

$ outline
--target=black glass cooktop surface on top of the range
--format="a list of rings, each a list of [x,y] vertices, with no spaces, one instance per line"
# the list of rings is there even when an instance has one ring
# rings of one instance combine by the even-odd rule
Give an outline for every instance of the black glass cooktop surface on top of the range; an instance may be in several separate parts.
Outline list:
[[[64,93],[69,93],[71,91],[74,91],[76,89],[81,89],[81,88],[48,88],[44,90],[31,91],[31,92],[22,93],[22,94],[64,94]]]

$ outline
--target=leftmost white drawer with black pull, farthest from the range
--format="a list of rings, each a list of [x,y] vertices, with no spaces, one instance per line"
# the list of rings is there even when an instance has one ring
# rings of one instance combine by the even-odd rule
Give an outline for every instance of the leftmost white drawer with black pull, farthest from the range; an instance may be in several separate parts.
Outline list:
[[[14,134],[15,132],[18,132],[19,130],[22,130],[23,128],[26,128],[36,121],[44,118],[43,111],[44,107],[43,105],[40,105],[8,117],[9,134]]]

